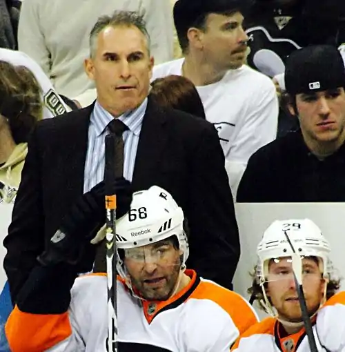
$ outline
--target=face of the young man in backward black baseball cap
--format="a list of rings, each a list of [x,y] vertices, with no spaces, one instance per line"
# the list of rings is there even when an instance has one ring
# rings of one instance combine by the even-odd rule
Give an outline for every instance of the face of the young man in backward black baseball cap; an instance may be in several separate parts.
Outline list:
[[[305,139],[320,144],[342,139],[345,133],[344,88],[298,94],[296,106]],[[290,112],[294,113],[291,106]]]

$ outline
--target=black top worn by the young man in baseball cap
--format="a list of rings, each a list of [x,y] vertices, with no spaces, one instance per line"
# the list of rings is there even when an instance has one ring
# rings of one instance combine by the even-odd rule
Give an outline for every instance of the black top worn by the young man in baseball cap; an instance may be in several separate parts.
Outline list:
[[[319,160],[300,131],[257,150],[237,191],[237,202],[345,202],[345,145]]]

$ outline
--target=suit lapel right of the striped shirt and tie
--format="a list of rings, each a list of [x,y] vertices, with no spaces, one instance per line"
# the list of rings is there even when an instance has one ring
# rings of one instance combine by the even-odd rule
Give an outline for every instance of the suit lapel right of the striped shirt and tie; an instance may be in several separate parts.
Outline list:
[[[148,186],[152,182],[152,174],[157,171],[161,153],[168,140],[168,119],[166,113],[157,107],[152,99],[148,106],[141,127],[132,185],[137,189]]]

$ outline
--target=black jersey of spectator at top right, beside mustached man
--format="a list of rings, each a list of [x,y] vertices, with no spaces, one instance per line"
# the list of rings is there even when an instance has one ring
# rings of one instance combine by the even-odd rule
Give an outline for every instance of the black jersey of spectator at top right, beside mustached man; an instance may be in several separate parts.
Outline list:
[[[279,17],[291,19],[282,28],[278,28],[275,18]],[[299,0],[294,6],[279,8],[274,0],[257,0],[253,11],[245,19],[245,25],[250,33],[248,64],[257,69],[254,57],[259,50],[273,51],[283,62],[296,50],[295,45],[282,39],[292,40],[300,47],[317,44],[338,47],[344,43],[345,1]],[[257,26],[264,28],[266,32]]]

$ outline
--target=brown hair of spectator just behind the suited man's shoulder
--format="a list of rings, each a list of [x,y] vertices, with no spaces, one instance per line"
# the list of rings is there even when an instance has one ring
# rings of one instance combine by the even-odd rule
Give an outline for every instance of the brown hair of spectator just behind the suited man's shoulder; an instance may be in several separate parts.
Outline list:
[[[150,96],[159,106],[173,108],[206,119],[204,106],[194,84],[186,77],[170,75],[151,83]]]

